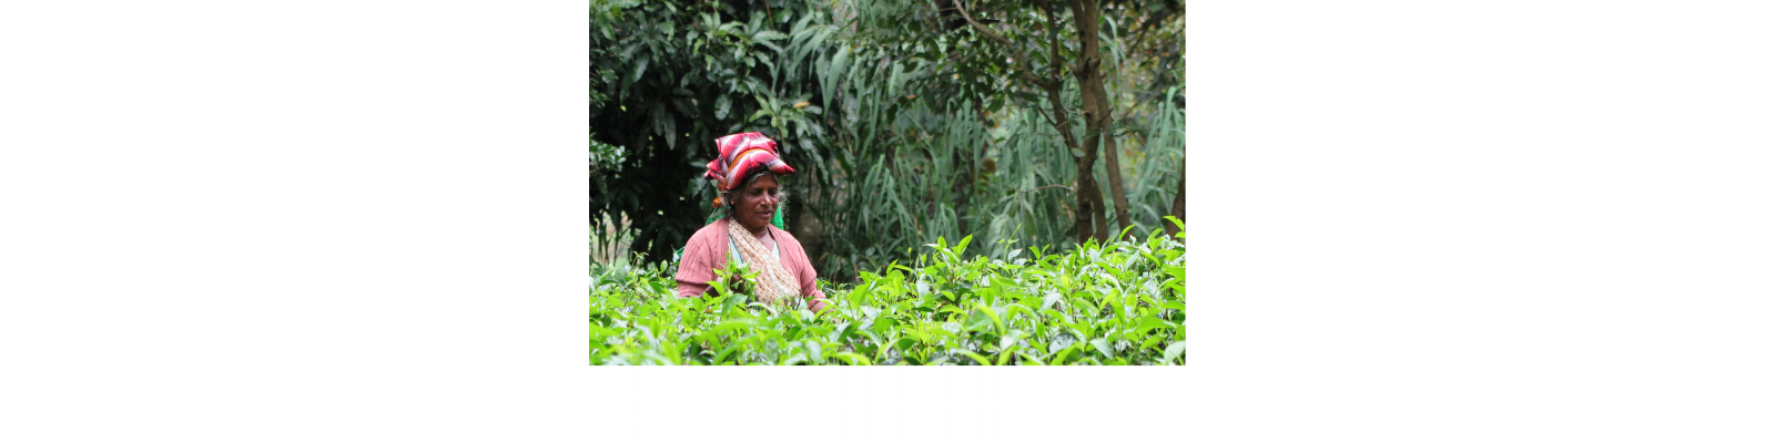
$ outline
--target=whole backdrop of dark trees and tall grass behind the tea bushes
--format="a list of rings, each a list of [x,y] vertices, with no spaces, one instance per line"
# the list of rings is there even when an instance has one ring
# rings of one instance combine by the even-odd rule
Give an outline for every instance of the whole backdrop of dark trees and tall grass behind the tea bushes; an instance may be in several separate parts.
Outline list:
[[[740,131],[781,142],[832,282],[1184,218],[1182,2],[595,0],[589,78],[595,266],[669,262]]]

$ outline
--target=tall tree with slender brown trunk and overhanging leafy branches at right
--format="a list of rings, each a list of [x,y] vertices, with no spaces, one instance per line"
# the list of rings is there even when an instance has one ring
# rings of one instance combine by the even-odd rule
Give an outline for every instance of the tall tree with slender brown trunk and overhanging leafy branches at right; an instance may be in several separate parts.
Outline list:
[[[966,2],[935,0],[925,4],[928,9],[896,7],[895,2],[859,2],[857,12],[866,21],[861,28],[889,53],[918,57],[925,46],[912,41],[939,41],[937,51],[950,51],[948,64],[935,66],[939,73],[951,73],[944,78],[923,76],[935,89],[982,94],[978,103],[990,103],[998,89],[1015,87],[1028,94],[1012,94],[1015,103],[1044,112],[1047,122],[1056,129],[1067,151],[1072,152],[1077,170],[1074,190],[1074,229],[1079,243],[1088,239],[1109,239],[1111,227],[1108,211],[1122,227],[1129,227],[1129,204],[1122,184],[1122,165],[1116,149],[1115,97],[1104,89],[1104,11],[1116,16],[1148,14],[1145,21],[1164,21],[1177,18],[1172,11],[1180,11],[1180,2],[1116,2],[1100,4],[1097,0],[1069,0],[1065,4],[1035,2]],[[934,27],[919,30],[919,16],[935,18]],[[1070,18],[1070,25],[1063,23]],[[967,37],[950,39],[962,32]],[[1008,35],[1008,37],[1006,37]],[[1067,74],[1076,82],[1067,82]],[[948,83],[948,85],[943,85]],[[957,85],[958,83],[958,85]],[[1069,97],[1077,94],[1077,105]],[[1083,122],[1083,135],[1076,131],[1076,122]],[[1099,151],[1102,147],[1102,151]],[[1113,207],[1104,204],[1104,190],[1093,174],[1099,154],[1104,156],[1108,170],[1108,191]]]

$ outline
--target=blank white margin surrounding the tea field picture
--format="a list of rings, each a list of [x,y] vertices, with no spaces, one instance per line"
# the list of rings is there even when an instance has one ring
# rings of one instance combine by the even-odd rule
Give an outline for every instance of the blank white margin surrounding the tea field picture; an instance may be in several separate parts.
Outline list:
[[[1763,2],[1209,2],[1184,369],[591,369],[579,2],[0,7],[5,441],[1768,441]]]

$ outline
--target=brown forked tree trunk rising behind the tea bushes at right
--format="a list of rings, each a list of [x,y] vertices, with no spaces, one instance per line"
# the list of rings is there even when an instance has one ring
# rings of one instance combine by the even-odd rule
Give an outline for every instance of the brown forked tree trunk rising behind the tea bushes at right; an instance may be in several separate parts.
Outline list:
[[[1079,66],[1072,69],[1072,74],[1079,78],[1079,97],[1085,101],[1085,154],[1095,159],[1097,145],[1104,147],[1104,170],[1109,172],[1115,222],[1127,229],[1132,222],[1127,214],[1127,195],[1122,191],[1122,156],[1116,152],[1115,135],[1109,133],[1115,119],[1109,115],[1111,99],[1104,90],[1102,51],[1097,39],[1097,21],[1102,18],[1102,11],[1097,9],[1097,0],[1072,0],[1069,5],[1079,35]],[[1097,200],[1097,207],[1102,209],[1102,197]],[[1108,227],[1100,227],[1099,239],[1108,237]]]

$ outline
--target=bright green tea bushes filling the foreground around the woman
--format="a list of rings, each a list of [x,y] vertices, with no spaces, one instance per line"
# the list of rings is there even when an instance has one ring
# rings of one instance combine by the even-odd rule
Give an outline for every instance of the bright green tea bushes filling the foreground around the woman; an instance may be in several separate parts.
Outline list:
[[[848,287],[822,280],[820,314],[756,303],[730,278],[678,298],[671,268],[605,268],[591,287],[591,363],[1182,365],[1182,237],[967,259],[973,237],[939,239],[912,266]]]

